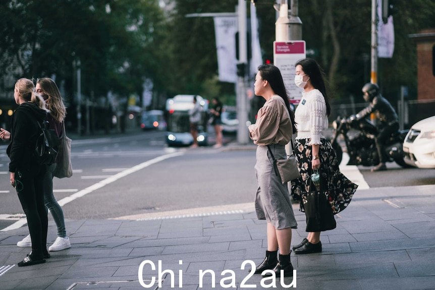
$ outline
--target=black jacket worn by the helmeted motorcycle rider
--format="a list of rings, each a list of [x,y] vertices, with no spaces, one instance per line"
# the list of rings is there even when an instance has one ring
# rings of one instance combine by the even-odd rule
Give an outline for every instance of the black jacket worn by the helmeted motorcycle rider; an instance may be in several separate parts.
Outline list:
[[[394,110],[393,106],[381,95],[375,96],[370,105],[364,109],[362,109],[357,115],[356,118],[361,120],[369,115],[371,112],[376,113],[377,119],[385,125],[391,125],[392,123],[398,122],[399,117],[397,117],[397,113]]]

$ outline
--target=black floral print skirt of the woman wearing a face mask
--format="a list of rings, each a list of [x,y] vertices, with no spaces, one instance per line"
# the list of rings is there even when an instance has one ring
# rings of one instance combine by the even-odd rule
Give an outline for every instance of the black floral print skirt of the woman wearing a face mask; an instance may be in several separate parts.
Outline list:
[[[296,139],[295,156],[299,166],[300,178],[291,181],[291,195],[294,200],[301,201],[300,211],[304,212],[302,193],[309,192],[311,180],[311,160],[312,147],[308,145],[310,139]],[[320,158],[320,179],[322,184],[327,184],[328,189],[334,194],[336,212],[344,210],[352,200],[358,185],[348,180],[340,172],[337,155],[326,139],[320,139],[319,158]]]

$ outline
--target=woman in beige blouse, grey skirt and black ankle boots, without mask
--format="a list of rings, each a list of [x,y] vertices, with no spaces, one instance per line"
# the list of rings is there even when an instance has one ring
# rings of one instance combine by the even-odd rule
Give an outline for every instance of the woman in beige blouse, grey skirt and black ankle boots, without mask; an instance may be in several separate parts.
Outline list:
[[[254,92],[266,102],[257,114],[257,121],[249,126],[249,136],[258,145],[255,173],[258,189],[255,196],[255,211],[258,219],[267,221],[267,251],[264,261],[255,269],[263,276],[292,276],[290,244],[292,228],[297,228],[287,183],[283,184],[275,174],[268,150],[276,159],[287,158],[285,145],[296,132],[294,113],[284,86],[280,70],[273,65],[258,67]],[[269,148],[269,149],[268,149]],[[279,259],[277,258],[280,249]]]

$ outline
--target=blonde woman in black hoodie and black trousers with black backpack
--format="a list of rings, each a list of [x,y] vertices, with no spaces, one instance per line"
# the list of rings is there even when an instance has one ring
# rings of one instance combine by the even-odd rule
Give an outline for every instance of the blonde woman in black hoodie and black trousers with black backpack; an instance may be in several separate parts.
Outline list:
[[[47,166],[38,164],[33,155],[40,131],[38,123],[45,120],[47,111],[44,100],[34,90],[33,82],[28,79],[19,79],[15,84],[14,98],[19,106],[12,115],[11,142],[7,149],[11,184],[26,214],[32,246],[30,254],[18,263],[20,267],[45,263],[45,258],[50,256],[46,248],[48,219],[43,194]]]

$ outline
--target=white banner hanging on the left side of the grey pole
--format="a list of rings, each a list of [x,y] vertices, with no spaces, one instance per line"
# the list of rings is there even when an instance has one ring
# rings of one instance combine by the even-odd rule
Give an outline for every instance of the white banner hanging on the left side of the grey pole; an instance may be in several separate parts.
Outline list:
[[[216,35],[217,67],[219,80],[222,82],[237,82],[236,59],[236,17],[214,17],[214,32]]]

